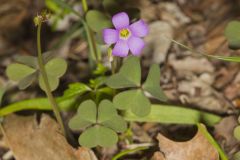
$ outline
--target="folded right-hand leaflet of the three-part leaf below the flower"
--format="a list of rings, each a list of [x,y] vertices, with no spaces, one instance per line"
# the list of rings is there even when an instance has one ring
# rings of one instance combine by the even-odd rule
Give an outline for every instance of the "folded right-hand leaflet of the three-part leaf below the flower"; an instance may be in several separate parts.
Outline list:
[[[149,92],[154,98],[157,98],[160,101],[166,101],[167,97],[165,96],[159,83],[160,68],[157,64],[153,64],[149,70],[148,77],[143,84],[143,89]]]

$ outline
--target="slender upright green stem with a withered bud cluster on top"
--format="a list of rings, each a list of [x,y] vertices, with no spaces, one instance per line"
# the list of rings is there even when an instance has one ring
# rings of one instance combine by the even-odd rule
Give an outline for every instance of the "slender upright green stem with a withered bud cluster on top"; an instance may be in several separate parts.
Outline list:
[[[60,124],[61,131],[66,136],[66,131],[65,131],[65,128],[64,128],[64,123],[63,123],[63,120],[62,120],[62,117],[61,117],[61,114],[60,114],[60,110],[59,110],[59,107],[57,105],[56,100],[54,99],[54,97],[52,95],[50,85],[49,85],[49,82],[48,82],[47,73],[46,73],[46,70],[45,70],[45,67],[44,67],[44,63],[43,63],[42,50],[41,50],[41,26],[42,26],[42,24],[39,23],[39,25],[37,27],[37,50],[38,50],[39,70],[40,70],[40,73],[43,77],[43,81],[44,81],[44,84],[45,84],[45,90],[44,91],[45,91],[45,93],[48,97],[48,100],[49,100],[49,102],[52,106],[52,110],[53,110],[53,112],[56,116],[56,119],[57,119],[58,123]]]

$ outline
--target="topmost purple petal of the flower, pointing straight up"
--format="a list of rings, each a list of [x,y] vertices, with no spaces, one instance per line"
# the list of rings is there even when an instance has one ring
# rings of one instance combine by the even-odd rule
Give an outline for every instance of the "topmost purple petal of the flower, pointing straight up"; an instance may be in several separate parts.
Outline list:
[[[112,22],[116,29],[122,29],[129,26],[129,17],[127,13],[120,12],[112,17]]]

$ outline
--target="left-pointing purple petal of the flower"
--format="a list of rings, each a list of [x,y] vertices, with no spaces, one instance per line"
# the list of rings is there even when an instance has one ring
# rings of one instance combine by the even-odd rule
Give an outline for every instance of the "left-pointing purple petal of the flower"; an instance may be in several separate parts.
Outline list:
[[[118,32],[115,29],[104,29],[103,40],[106,44],[116,43],[118,40]]]

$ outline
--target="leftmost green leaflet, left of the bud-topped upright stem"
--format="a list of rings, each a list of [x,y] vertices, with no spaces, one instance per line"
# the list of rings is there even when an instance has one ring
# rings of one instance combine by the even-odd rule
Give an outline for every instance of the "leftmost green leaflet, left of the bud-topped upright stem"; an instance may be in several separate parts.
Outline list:
[[[20,81],[35,71],[36,70],[34,68],[31,68],[24,64],[13,63],[7,67],[6,73],[9,79],[13,81]]]

